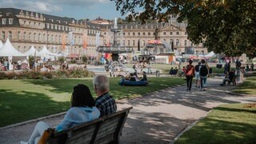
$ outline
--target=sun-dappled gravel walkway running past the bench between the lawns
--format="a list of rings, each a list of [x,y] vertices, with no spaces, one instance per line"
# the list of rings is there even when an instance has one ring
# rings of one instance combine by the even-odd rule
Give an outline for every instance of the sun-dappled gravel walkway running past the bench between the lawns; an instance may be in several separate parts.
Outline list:
[[[222,103],[256,102],[255,97],[231,94],[234,86],[219,86],[221,78],[209,78],[209,88],[200,91],[176,86],[147,94],[141,98],[118,101],[118,109],[133,106],[122,130],[122,143],[170,143],[188,126],[204,117],[214,106]],[[56,126],[63,114],[43,120]],[[34,121],[0,128],[0,143],[19,143],[27,140],[35,126]]]

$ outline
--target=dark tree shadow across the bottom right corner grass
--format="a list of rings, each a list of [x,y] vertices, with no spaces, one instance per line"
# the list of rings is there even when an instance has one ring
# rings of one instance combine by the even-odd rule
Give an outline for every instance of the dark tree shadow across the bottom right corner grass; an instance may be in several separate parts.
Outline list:
[[[182,134],[176,143],[255,143],[256,126],[205,118]]]

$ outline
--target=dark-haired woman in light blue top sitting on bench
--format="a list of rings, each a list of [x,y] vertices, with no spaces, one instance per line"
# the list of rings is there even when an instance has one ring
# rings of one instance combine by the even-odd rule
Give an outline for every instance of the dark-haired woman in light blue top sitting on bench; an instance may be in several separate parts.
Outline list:
[[[66,130],[70,127],[78,126],[84,122],[93,121],[99,118],[100,112],[95,107],[94,98],[90,93],[90,89],[83,85],[78,84],[74,86],[74,90],[71,96],[71,108],[67,111],[62,122],[54,128],[55,131]],[[30,136],[29,142],[23,143],[38,143],[39,139],[45,130],[50,128],[46,122],[38,122],[34,127],[34,131]]]

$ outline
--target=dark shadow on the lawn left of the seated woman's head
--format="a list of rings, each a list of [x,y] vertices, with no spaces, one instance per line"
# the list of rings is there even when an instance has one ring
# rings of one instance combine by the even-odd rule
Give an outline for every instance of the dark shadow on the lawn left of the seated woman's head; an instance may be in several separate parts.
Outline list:
[[[42,93],[0,89],[0,126],[56,114],[69,107],[70,102],[56,102]]]

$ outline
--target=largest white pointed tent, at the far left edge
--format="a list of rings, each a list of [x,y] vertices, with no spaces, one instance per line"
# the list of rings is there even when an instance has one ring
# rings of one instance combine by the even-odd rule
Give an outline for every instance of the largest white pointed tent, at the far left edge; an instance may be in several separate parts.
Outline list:
[[[13,70],[13,58],[26,59],[26,55],[22,54],[11,45],[9,38],[7,38],[6,43],[0,49],[0,57],[8,57],[9,70]]]

